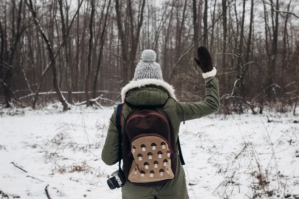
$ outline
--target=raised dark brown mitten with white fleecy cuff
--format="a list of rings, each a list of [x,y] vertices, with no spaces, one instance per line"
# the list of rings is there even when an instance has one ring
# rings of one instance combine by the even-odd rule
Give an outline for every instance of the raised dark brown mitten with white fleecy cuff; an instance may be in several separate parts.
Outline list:
[[[216,75],[217,70],[213,67],[212,58],[209,50],[205,46],[197,48],[197,58],[194,58],[196,64],[201,68],[204,79]]]

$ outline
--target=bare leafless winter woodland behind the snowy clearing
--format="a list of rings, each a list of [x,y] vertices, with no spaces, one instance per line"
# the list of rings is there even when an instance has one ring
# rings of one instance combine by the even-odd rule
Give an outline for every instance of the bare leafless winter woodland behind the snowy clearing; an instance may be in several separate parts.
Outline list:
[[[298,32],[299,0],[0,0],[0,101],[113,105],[144,49],[179,100],[203,100],[205,45],[221,111],[295,114]]]

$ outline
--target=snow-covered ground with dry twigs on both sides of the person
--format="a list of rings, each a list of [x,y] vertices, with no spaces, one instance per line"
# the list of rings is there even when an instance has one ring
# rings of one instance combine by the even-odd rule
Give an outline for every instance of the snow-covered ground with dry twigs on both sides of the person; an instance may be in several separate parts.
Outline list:
[[[120,199],[121,190],[106,183],[117,165],[101,161],[113,109],[61,109],[4,109],[0,196],[46,199],[48,185],[51,199]],[[190,199],[299,199],[296,121],[269,112],[186,121],[180,139]]]

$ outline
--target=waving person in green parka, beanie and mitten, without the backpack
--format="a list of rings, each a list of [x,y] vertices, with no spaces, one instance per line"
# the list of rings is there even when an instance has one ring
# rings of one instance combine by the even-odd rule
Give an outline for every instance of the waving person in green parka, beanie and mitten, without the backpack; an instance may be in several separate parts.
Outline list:
[[[219,109],[218,79],[215,78],[216,69],[208,49],[201,46],[197,49],[197,65],[203,71],[205,79],[206,98],[199,102],[179,102],[174,95],[174,89],[163,81],[159,64],[155,61],[156,54],[152,50],[142,53],[142,60],[135,69],[133,81],[122,90],[122,101],[133,106],[163,105],[163,109],[170,118],[175,137],[178,137],[179,126],[182,121],[200,118],[216,112]],[[122,122],[132,109],[124,106]],[[107,138],[102,151],[102,160],[107,165],[118,162],[119,153],[118,130],[116,126],[116,109],[111,116]],[[177,158],[175,178],[159,186],[135,186],[126,182],[122,187],[123,199],[188,199],[185,174]]]

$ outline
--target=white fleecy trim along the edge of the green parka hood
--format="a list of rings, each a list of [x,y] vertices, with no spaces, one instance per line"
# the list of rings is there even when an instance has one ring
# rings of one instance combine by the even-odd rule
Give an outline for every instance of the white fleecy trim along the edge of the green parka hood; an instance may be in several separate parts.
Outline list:
[[[136,81],[131,81],[129,84],[127,84],[123,89],[122,89],[122,103],[125,102],[126,94],[128,91],[131,89],[135,88],[142,88],[147,85],[154,85],[158,87],[164,88],[168,94],[169,97],[173,98],[176,100],[175,95],[174,95],[174,89],[171,85],[169,85],[167,82],[164,82],[163,80],[157,80],[157,79],[142,79],[142,80],[136,80]]]

